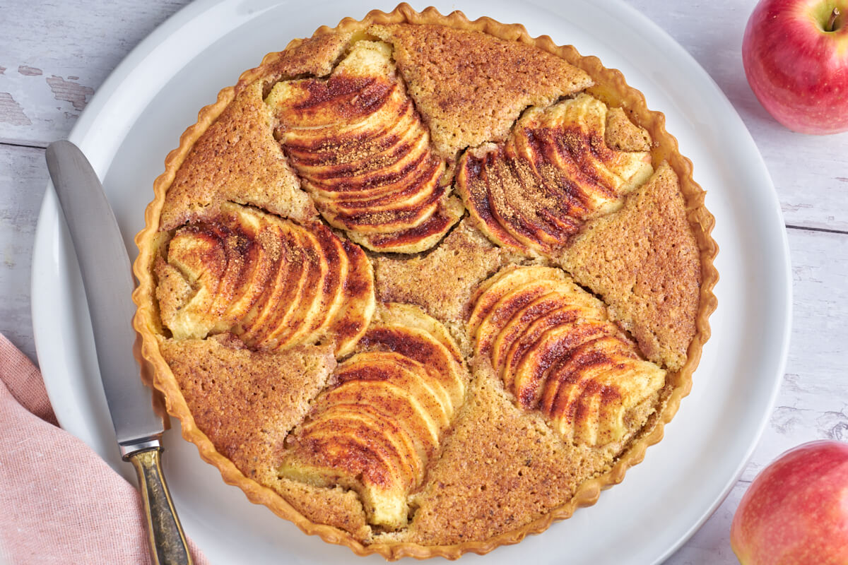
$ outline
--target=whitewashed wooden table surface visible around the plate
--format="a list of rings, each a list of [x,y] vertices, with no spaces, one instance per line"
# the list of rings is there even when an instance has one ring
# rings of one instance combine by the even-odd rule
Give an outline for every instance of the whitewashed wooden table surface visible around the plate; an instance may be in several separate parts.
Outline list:
[[[848,441],[848,134],[794,134],[756,101],[739,54],[756,0],[630,1],[680,42],[733,102],[772,174],[789,233],[795,313],[777,406],[728,499],[668,560],[735,563],[730,522],[756,473],[806,440]],[[34,360],[30,265],[47,185],[44,147],[68,135],[120,60],[186,3],[0,2],[0,332]]]

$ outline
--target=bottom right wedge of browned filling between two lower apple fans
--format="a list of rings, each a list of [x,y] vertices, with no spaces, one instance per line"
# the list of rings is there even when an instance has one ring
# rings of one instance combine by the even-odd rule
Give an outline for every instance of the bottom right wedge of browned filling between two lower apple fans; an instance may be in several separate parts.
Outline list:
[[[567,500],[582,479],[581,464],[598,466],[576,461],[540,418],[505,398],[486,363],[475,364],[465,410],[416,496],[410,541],[449,546],[503,535]]]

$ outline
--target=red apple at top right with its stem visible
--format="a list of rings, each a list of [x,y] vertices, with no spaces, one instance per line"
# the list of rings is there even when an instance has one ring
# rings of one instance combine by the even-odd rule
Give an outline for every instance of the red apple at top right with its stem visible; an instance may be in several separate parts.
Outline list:
[[[761,0],[742,64],[763,107],[790,130],[848,131],[848,0]]]

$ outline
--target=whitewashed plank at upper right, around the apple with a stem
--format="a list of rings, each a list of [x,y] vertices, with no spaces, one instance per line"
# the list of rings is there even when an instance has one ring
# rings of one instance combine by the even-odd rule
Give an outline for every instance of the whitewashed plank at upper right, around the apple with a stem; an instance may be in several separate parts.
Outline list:
[[[745,79],[742,34],[756,2],[628,0],[683,45],[733,102],[766,160],[786,223],[848,231],[848,133],[787,130],[762,108]]]

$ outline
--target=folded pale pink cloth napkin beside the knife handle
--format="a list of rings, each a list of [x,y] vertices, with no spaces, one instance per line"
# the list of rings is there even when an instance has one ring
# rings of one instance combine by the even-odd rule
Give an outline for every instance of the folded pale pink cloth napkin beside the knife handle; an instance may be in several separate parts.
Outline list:
[[[41,373],[0,334],[0,563],[149,562],[137,490],[59,428]]]

